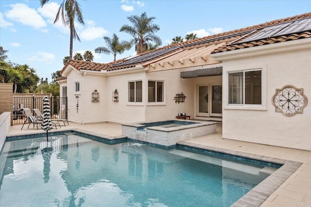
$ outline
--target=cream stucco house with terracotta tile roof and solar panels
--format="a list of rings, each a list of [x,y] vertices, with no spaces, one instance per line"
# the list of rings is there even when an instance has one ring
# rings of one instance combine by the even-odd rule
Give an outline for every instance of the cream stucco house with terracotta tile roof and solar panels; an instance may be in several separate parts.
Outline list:
[[[222,121],[223,138],[311,150],[311,13],[107,64],[70,60],[61,75],[69,121],[186,113]]]

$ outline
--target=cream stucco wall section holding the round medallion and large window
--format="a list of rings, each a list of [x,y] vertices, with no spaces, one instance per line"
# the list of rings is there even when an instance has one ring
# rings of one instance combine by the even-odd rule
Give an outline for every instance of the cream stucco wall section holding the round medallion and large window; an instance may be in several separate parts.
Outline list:
[[[310,43],[309,43],[310,45]],[[290,47],[290,46],[289,46]],[[251,52],[250,52],[251,53]],[[223,138],[311,150],[311,47],[223,60]],[[262,106],[253,110],[227,105],[227,72],[262,69]],[[276,88],[303,88],[309,103],[292,117],[275,111]]]

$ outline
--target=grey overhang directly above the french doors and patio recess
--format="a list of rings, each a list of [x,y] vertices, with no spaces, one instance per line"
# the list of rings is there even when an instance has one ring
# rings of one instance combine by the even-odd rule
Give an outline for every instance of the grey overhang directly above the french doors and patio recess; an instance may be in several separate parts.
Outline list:
[[[207,77],[222,75],[223,67],[209,68],[209,69],[196,69],[191,71],[180,72],[181,78],[197,78],[197,77]]]

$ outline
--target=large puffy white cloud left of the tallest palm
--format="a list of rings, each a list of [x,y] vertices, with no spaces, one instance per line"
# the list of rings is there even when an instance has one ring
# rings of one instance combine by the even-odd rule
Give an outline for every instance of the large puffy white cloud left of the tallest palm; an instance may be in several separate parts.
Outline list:
[[[5,16],[13,21],[31,26],[34,29],[46,27],[43,18],[35,11],[22,3],[11,4],[11,10],[5,12]]]

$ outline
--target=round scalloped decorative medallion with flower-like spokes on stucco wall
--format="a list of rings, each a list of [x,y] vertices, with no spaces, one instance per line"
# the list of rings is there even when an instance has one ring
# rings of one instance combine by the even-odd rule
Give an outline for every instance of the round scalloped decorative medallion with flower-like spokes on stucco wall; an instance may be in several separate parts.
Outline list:
[[[303,94],[303,88],[296,88],[287,85],[276,89],[276,94],[272,97],[272,103],[276,107],[276,112],[291,117],[296,113],[302,113],[307,105],[308,99]]]

